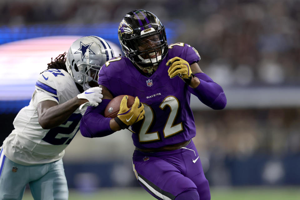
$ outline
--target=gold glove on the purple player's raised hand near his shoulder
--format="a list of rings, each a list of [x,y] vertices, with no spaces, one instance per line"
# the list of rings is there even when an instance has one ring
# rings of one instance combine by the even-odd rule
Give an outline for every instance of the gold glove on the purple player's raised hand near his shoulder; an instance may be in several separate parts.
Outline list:
[[[188,85],[191,83],[192,70],[187,61],[179,57],[174,57],[168,60],[166,65],[169,66],[168,73],[170,78],[178,75]]]

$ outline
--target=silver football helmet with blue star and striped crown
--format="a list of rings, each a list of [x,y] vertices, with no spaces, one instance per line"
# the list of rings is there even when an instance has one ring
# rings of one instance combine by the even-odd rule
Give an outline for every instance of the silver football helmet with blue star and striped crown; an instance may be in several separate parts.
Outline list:
[[[77,39],[67,53],[66,66],[75,83],[83,90],[91,88],[90,81],[98,83],[98,73],[106,61],[114,57],[113,49],[101,37],[85,36]]]

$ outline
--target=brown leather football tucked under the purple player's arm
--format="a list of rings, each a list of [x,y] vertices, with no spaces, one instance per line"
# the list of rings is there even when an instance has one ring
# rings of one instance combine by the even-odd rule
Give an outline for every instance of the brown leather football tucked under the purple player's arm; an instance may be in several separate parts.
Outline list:
[[[125,95],[120,95],[113,98],[105,108],[104,117],[106,118],[115,118],[120,110],[120,104]],[[127,95],[127,107],[131,108],[134,103],[135,98],[133,96]]]

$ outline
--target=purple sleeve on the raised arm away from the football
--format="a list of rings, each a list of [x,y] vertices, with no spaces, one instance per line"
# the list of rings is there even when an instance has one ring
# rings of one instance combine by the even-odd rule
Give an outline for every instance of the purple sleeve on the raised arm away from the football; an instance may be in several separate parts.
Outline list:
[[[197,88],[187,87],[188,91],[212,109],[221,110],[225,108],[227,100],[222,87],[213,82],[205,73],[197,73],[195,76],[199,78],[200,84]]]

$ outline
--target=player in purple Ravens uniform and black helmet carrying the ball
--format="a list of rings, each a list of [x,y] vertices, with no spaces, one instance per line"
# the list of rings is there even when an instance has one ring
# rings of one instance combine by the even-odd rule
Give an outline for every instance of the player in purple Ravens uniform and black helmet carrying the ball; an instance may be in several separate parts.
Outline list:
[[[157,199],[210,199],[192,141],[196,128],[190,96],[223,109],[223,89],[201,71],[195,48],[167,44],[165,27],[151,12],[128,12],[118,37],[125,57],[112,58],[99,71],[103,100],[87,109],[80,123],[82,135],[103,137],[130,126],[136,147],[133,171],[142,187]],[[116,118],[103,117],[109,101],[123,94],[136,97],[133,106],[127,108],[125,96]]]

